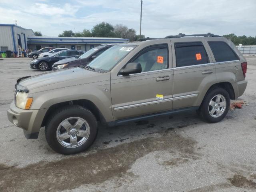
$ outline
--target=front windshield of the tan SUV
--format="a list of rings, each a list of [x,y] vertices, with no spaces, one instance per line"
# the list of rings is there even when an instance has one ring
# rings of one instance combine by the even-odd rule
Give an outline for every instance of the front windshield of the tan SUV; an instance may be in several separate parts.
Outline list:
[[[113,46],[96,57],[88,66],[102,72],[109,71],[130,53],[134,47],[134,45]]]

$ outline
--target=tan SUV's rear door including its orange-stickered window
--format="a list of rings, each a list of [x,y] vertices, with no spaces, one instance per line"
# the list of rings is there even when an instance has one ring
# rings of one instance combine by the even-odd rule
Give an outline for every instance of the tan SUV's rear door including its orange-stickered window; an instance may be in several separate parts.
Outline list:
[[[172,109],[199,106],[206,87],[216,82],[216,69],[202,38],[174,38]]]

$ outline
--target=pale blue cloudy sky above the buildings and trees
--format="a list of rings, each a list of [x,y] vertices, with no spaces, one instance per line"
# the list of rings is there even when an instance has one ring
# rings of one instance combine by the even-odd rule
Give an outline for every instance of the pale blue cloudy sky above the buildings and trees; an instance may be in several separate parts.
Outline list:
[[[58,36],[100,22],[140,30],[140,0],[0,0],[0,24],[15,24]],[[234,33],[256,36],[256,0],[144,0],[142,34]]]

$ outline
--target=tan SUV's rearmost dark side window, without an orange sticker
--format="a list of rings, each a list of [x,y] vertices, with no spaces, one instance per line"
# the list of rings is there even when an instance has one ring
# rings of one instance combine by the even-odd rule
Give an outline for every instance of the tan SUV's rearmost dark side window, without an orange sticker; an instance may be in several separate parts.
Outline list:
[[[239,60],[234,51],[225,42],[208,42],[216,62]]]

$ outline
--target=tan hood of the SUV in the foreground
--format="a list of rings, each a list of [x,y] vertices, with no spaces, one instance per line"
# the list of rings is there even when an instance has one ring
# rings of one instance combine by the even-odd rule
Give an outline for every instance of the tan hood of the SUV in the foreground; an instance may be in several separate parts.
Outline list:
[[[102,76],[102,73],[92,72],[77,67],[47,72],[26,78],[21,80],[19,84],[28,88],[29,93],[36,93],[79,84],[98,82],[101,79],[99,76]]]

